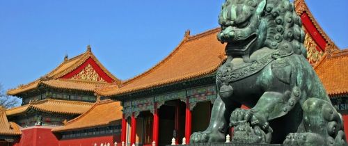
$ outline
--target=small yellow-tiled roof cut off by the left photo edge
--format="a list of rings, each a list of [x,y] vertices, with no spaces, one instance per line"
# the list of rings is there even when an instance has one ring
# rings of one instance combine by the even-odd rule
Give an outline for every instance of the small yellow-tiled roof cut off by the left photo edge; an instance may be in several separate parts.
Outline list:
[[[0,136],[20,136],[21,134],[18,124],[8,122],[6,109],[0,106]]]

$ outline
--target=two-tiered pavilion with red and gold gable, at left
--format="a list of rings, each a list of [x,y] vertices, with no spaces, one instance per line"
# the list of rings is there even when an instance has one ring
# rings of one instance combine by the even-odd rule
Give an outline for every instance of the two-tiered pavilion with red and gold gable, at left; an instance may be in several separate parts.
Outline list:
[[[21,127],[60,126],[64,120],[85,113],[95,103],[94,89],[120,83],[95,58],[90,47],[84,54],[68,59],[52,72],[31,83],[8,90],[22,98],[22,106],[6,111],[8,119]]]

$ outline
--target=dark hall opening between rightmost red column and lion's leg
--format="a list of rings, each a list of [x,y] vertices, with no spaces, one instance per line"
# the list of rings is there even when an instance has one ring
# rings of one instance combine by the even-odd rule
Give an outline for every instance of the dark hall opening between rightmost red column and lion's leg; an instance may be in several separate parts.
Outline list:
[[[212,102],[198,102],[192,110],[192,133],[205,131],[209,125],[210,114],[212,111]]]

